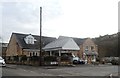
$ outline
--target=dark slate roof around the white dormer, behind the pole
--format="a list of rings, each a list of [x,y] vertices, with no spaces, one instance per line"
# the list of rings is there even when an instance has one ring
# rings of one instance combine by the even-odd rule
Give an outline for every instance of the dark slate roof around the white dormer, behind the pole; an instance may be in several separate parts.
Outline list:
[[[23,49],[39,49],[40,48],[40,36],[38,35],[32,35],[37,41],[35,41],[34,44],[26,44],[24,38],[28,36],[29,34],[21,34],[21,33],[12,33],[12,35],[15,35],[18,44],[23,48]],[[46,44],[56,40],[54,37],[46,37],[42,36],[42,47],[44,47]]]

